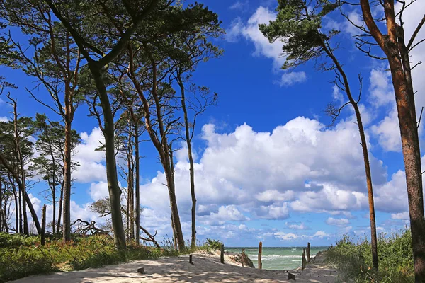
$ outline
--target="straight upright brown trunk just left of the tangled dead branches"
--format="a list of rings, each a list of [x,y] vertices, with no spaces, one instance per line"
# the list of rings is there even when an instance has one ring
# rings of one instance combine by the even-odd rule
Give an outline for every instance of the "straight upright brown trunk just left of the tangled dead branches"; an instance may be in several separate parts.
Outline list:
[[[69,107],[65,107],[68,109]],[[68,110],[69,111],[69,110]],[[71,240],[71,151],[72,134],[71,122],[65,119],[65,149],[64,149],[64,186],[63,186],[63,224],[62,239],[64,242]]]

